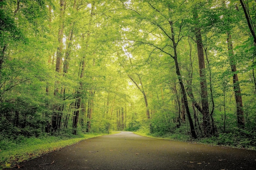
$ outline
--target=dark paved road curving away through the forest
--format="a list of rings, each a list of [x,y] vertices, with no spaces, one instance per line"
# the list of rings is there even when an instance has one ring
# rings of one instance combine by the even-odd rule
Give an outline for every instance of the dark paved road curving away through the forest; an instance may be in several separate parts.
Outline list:
[[[256,151],[121,132],[86,139],[20,166],[21,170],[255,170]]]

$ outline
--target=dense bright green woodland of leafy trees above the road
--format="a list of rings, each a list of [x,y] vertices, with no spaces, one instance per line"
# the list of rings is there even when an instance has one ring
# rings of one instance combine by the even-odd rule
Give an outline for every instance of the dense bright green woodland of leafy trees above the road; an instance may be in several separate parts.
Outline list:
[[[255,0],[0,0],[0,139],[256,146],[255,22]]]

